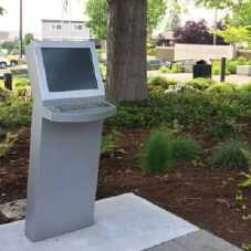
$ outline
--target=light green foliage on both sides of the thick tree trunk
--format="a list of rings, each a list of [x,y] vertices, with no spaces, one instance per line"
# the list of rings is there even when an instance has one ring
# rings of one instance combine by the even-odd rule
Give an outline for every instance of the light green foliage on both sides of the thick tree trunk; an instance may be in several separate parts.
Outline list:
[[[123,3],[121,7],[123,8]],[[147,30],[148,35],[159,24],[166,13],[166,0],[148,0]],[[106,0],[88,0],[86,6],[88,27],[97,39],[106,39]]]

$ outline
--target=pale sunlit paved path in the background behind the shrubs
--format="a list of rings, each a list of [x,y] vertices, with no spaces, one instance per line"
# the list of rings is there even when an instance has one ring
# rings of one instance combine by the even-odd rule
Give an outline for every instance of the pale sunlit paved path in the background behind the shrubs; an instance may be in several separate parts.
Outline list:
[[[159,71],[148,71],[147,75],[148,76],[159,76],[159,75],[161,75],[161,76],[165,76],[167,79],[177,80],[177,81],[189,81],[189,80],[192,80],[192,74],[191,73],[172,74],[172,73],[160,73]],[[216,80],[216,81],[220,81],[220,76],[219,75],[213,75],[212,79]],[[247,83],[247,82],[251,82],[251,76],[228,75],[228,76],[226,76],[226,81],[231,82],[231,83],[243,84],[243,83]]]

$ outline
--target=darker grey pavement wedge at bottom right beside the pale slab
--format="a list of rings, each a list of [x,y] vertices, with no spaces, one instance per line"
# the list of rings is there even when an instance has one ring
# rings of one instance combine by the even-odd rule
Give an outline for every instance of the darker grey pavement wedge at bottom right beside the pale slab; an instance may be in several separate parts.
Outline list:
[[[241,251],[241,249],[205,230],[199,230],[145,251]]]

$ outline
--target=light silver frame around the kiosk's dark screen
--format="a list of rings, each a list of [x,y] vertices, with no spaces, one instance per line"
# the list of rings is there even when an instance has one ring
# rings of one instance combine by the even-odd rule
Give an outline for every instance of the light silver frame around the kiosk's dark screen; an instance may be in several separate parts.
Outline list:
[[[48,86],[45,67],[43,64],[42,49],[43,48],[87,48],[91,50],[93,59],[94,73],[97,81],[97,88],[92,90],[77,90],[77,91],[63,91],[63,92],[50,92]],[[46,104],[55,100],[72,100],[72,98],[92,98],[96,96],[104,96],[105,90],[101,70],[98,66],[97,55],[95,53],[95,44],[90,41],[72,42],[72,41],[46,41],[35,44],[35,57],[38,65],[38,74],[40,79],[41,98]]]

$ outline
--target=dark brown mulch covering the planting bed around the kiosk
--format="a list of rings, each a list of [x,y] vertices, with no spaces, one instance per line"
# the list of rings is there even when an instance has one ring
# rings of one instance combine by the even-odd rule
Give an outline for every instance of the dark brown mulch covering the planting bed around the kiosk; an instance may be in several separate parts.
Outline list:
[[[29,128],[15,147],[0,158],[0,203],[24,198],[29,163]],[[210,170],[198,164],[180,164],[167,176],[146,175],[139,169],[137,149],[146,130],[125,130],[119,147],[102,156],[97,198],[135,192],[154,203],[241,247],[251,242],[251,189],[237,201],[240,172]],[[245,207],[243,207],[245,205]],[[0,223],[6,219],[0,216]]]

